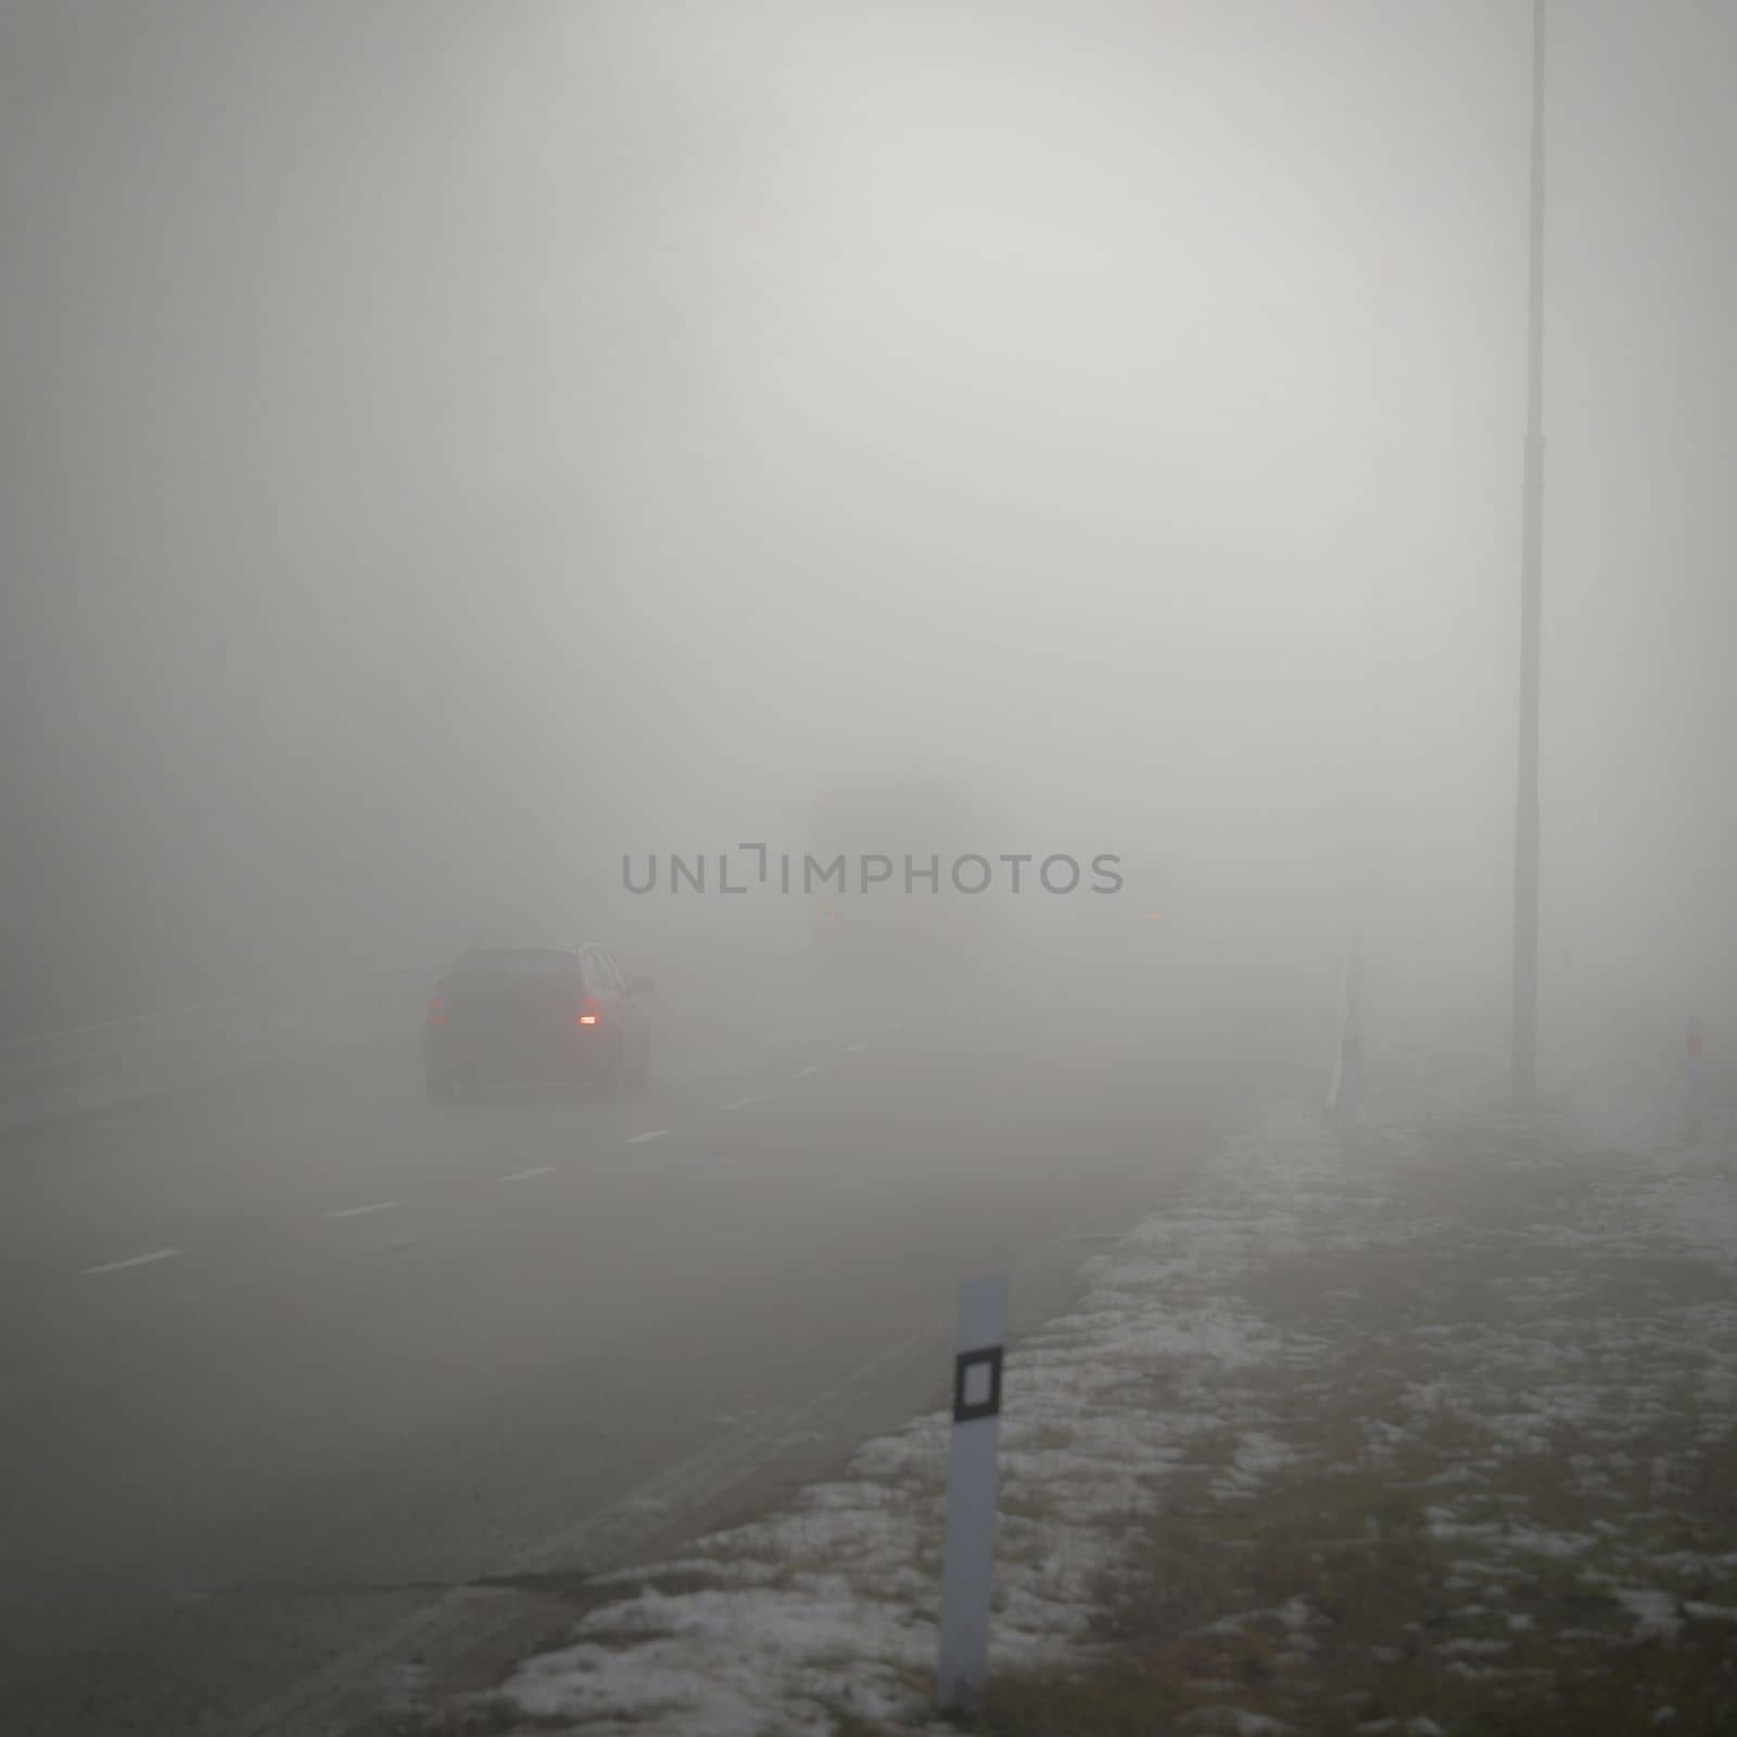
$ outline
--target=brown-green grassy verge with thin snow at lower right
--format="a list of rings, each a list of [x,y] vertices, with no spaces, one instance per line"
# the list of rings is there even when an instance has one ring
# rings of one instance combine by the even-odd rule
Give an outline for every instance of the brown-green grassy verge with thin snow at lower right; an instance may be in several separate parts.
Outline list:
[[[1091,1661],[1002,1673],[994,1737],[1737,1734],[1728,1270],[1621,1155],[1466,1122],[1388,1183],[1235,1278],[1322,1346],[1235,1384],[1282,1464],[1226,1499],[1228,1430],[1155,1483]]]

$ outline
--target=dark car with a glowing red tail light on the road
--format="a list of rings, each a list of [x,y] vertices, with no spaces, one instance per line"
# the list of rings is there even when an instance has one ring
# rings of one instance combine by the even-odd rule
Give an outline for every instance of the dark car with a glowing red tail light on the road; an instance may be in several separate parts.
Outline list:
[[[429,1096],[455,1101],[495,1086],[643,1091],[650,988],[596,945],[462,954],[434,990],[422,1032]]]

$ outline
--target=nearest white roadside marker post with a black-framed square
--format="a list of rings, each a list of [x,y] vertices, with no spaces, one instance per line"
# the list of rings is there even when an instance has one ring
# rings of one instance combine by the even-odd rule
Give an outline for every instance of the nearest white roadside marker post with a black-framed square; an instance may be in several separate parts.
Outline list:
[[[995,1454],[1001,1447],[1001,1360],[1007,1275],[959,1287],[954,1341],[954,1445],[947,1471],[941,1560],[941,1711],[976,1713],[988,1671],[988,1595],[995,1577]]]

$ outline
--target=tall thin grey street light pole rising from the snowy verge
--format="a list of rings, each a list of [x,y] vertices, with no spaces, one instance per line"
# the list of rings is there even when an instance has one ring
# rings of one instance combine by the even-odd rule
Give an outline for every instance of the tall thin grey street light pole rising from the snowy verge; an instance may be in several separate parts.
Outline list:
[[[1515,801],[1513,1094],[1537,1086],[1537,716],[1544,592],[1544,0],[1532,0],[1532,259],[1520,568],[1520,783]]]

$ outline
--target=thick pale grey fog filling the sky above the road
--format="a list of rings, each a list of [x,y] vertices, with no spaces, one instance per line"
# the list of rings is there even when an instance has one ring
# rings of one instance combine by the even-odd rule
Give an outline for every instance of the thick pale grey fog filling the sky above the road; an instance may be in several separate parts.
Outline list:
[[[1560,14],[1546,1018],[1676,1021],[1737,936],[1737,21]],[[1329,999],[1362,929],[1499,1034],[1529,54],[1509,0],[9,0],[7,1023],[644,933],[624,853],[921,771],[1126,858],[1034,926]]]

